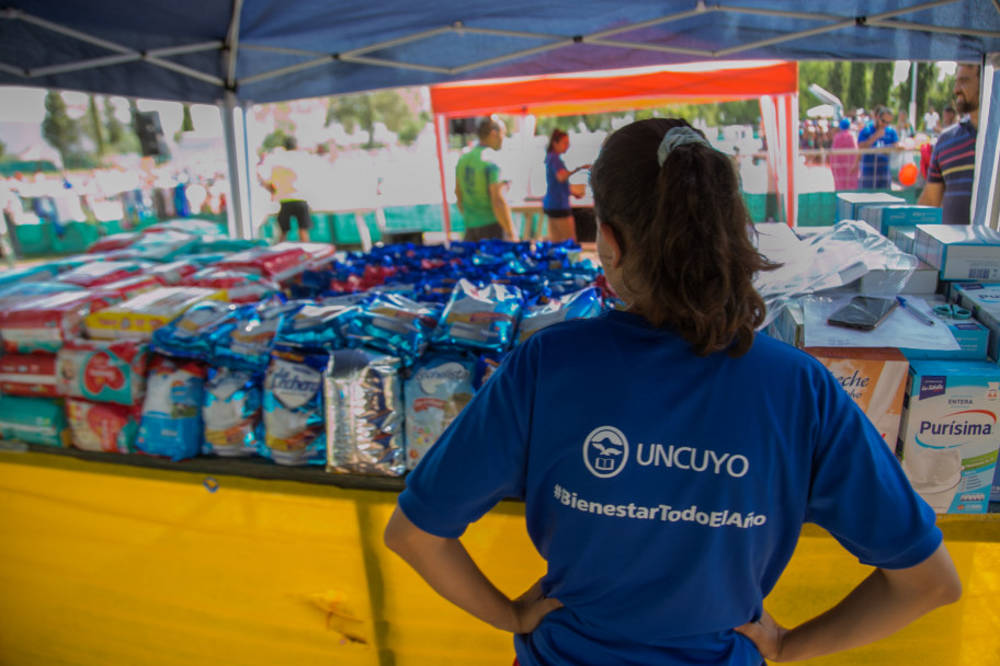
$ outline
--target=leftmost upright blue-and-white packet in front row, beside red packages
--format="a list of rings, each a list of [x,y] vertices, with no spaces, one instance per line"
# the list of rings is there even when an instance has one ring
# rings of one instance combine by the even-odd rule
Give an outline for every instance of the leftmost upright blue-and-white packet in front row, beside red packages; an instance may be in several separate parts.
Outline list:
[[[202,450],[204,390],[203,364],[154,356],[149,363],[136,448],[171,460],[197,456]]]

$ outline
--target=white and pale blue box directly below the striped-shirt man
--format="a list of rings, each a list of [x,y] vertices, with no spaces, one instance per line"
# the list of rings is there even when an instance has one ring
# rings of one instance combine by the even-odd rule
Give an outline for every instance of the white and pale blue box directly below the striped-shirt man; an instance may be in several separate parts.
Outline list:
[[[914,254],[941,279],[1000,282],[1000,233],[981,225],[918,225]]]

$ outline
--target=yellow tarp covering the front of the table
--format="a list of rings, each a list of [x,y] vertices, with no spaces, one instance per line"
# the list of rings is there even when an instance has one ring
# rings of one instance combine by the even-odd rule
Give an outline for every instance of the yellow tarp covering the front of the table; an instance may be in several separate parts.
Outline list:
[[[510,636],[382,544],[390,492],[0,453],[0,665],[509,666]],[[964,599],[822,665],[1000,664],[1000,516],[943,517]],[[523,507],[465,542],[501,589],[543,572]],[[818,529],[768,607],[795,622],[866,569]]]

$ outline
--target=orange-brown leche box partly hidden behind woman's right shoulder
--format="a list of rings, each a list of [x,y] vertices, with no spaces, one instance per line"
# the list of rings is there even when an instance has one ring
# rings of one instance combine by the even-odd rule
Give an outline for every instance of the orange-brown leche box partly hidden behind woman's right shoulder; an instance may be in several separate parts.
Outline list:
[[[895,449],[909,361],[890,347],[807,347]]]

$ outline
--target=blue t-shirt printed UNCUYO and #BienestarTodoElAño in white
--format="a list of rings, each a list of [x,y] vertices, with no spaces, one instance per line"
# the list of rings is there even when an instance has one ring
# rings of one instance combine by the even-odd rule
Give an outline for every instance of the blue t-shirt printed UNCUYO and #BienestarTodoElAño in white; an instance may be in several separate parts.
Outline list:
[[[732,631],[761,613],[803,523],[863,563],[912,566],[933,510],[832,375],[758,335],[700,357],[669,330],[607,312],[520,345],[407,480],[421,529],[461,536],[525,502],[565,608],[515,636],[523,666],[758,666]]]

